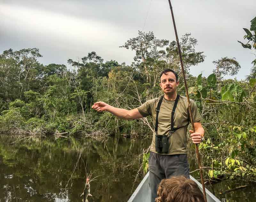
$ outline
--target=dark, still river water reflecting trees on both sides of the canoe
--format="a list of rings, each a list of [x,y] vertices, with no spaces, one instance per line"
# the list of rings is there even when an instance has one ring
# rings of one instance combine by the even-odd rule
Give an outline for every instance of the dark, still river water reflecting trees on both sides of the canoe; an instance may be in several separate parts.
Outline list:
[[[98,176],[91,182],[89,202],[125,202],[143,178],[138,174],[141,153],[150,142],[123,137],[17,140],[0,135],[0,202],[81,202],[85,168]],[[190,167],[196,169],[193,161]],[[222,194],[245,184],[225,180],[208,189],[223,202],[256,201],[255,184]]]

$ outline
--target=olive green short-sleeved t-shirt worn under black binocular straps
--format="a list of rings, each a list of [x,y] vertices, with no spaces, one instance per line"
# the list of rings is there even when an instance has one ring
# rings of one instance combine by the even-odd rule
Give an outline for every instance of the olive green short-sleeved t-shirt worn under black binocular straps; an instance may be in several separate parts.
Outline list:
[[[137,109],[140,114],[144,117],[152,116],[154,123],[154,130],[156,124],[156,107],[159,98],[146,101]],[[175,101],[167,101],[165,98],[161,104],[159,115],[158,115],[158,135],[168,135],[171,129],[171,114],[172,108]],[[201,120],[200,114],[196,107],[196,103],[190,99],[191,112],[194,122],[199,122]],[[170,154],[184,154],[187,153],[187,129],[190,122],[188,100],[187,97],[181,96],[178,101],[175,114],[174,114],[174,128],[180,128],[174,131],[169,139],[169,151],[168,153],[161,153],[163,155]],[[157,153],[155,148],[155,132],[153,133],[153,140],[150,146],[150,151]]]

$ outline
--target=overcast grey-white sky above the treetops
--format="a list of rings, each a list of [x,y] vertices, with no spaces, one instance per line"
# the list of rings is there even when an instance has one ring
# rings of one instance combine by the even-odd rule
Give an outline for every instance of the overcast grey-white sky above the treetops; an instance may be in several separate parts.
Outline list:
[[[172,0],[172,6],[179,37],[191,33],[206,55],[190,68],[193,75],[207,77],[212,61],[225,56],[240,63],[237,79],[250,73],[255,56],[237,40],[244,41],[242,28],[256,16],[255,0]],[[105,62],[131,64],[135,52],[119,46],[138,30],[175,40],[168,0],[0,0],[0,16],[0,54],[36,47],[43,64],[67,64],[91,51]]]

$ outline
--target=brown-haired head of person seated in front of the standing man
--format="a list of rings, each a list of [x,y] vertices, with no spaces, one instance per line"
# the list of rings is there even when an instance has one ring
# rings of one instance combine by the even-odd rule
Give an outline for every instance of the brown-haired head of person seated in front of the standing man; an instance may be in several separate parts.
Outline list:
[[[204,202],[197,184],[184,176],[162,180],[157,195],[156,202]]]

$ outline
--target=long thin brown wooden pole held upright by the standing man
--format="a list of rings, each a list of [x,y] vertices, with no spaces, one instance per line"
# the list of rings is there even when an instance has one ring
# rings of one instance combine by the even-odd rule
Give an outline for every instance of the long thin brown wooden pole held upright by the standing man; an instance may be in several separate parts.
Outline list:
[[[189,100],[189,94],[188,94],[187,80],[186,80],[185,70],[184,70],[184,66],[183,66],[183,62],[182,62],[182,57],[181,57],[181,52],[180,52],[180,43],[179,43],[179,38],[178,38],[177,29],[176,29],[176,25],[175,25],[174,15],[173,15],[173,11],[172,11],[172,4],[171,4],[170,0],[168,0],[168,1],[169,1],[171,13],[172,13],[172,21],[173,21],[173,26],[174,26],[177,46],[178,46],[178,50],[179,50],[181,70],[182,70],[182,74],[183,74],[183,78],[184,78],[184,85],[185,85],[187,99],[188,99],[188,108],[189,108],[190,121],[191,121],[191,125],[192,125],[192,130],[193,130],[193,132],[195,132],[195,125],[194,125],[194,120],[193,120],[192,113],[191,113],[191,106],[190,106],[190,100]],[[198,150],[198,145],[197,144],[196,144],[196,157],[197,157],[197,163],[198,163],[199,170],[200,170],[201,182],[202,182],[202,186],[203,186],[204,200],[205,200],[205,202],[207,202],[206,193],[205,193],[205,187],[204,187],[203,171],[202,171],[200,154],[199,154],[199,150]]]

